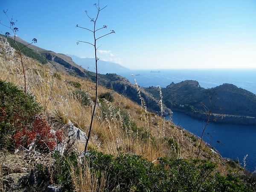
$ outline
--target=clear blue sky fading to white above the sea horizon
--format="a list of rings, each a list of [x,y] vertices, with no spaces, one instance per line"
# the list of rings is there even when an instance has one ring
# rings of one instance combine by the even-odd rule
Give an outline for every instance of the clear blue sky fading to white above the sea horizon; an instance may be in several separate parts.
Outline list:
[[[2,0],[17,36],[57,53],[93,58],[98,0]],[[107,6],[107,7],[105,7]],[[100,0],[97,57],[129,69],[256,68],[256,0]],[[9,20],[0,12],[3,24]],[[0,25],[0,33],[11,32]]]

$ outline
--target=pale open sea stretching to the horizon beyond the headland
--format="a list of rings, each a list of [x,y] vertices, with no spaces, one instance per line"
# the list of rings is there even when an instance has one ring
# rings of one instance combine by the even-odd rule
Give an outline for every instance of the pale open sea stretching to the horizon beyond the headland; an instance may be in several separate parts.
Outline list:
[[[156,73],[150,73],[151,71]],[[230,83],[256,94],[256,69],[128,70],[118,75],[127,78],[131,83],[136,79],[141,87],[166,87],[172,82],[195,80],[204,88]]]

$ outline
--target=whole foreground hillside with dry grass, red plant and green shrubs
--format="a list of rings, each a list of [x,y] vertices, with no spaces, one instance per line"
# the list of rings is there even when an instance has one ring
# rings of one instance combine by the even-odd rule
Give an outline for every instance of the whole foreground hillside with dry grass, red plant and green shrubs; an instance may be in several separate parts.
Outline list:
[[[2,84],[11,82],[9,86],[22,90],[24,81],[19,57],[17,53],[5,52],[3,41],[0,41],[0,80]],[[254,190],[251,186],[254,180],[249,177],[253,175],[242,172],[239,164],[221,158],[206,143],[201,146],[200,159],[195,159],[200,143],[198,137],[102,86],[98,88],[99,104],[89,141],[91,151],[81,157],[84,143],[70,143],[65,126],[70,121],[87,134],[95,101],[95,83],[58,72],[51,63],[41,64],[26,56],[24,60],[28,94],[35,97],[32,102],[40,104],[41,114],[35,116],[29,126],[23,126],[20,119],[25,118],[26,110],[19,114],[8,113],[8,117],[8,106],[14,103],[1,100],[0,121],[14,125],[14,131],[5,131],[4,126],[0,130],[10,141],[1,145],[0,189],[7,190],[2,181],[18,172],[34,174],[35,178],[40,173],[44,178],[26,191],[43,190],[48,183],[62,186],[66,191]],[[0,91],[3,98],[12,99],[17,95],[6,92],[8,96]],[[22,91],[16,92],[17,97],[23,97]],[[61,138],[56,133],[61,133]],[[32,148],[28,142],[31,138],[35,141]],[[52,139],[55,143],[67,143],[63,154],[53,150]]]

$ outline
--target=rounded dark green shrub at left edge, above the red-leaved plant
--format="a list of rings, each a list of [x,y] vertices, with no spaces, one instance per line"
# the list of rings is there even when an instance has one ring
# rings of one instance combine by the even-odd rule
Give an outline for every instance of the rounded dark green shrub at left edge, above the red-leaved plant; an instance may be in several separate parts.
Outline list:
[[[0,148],[11,147],[10,136],[32,128],[41,106],[31,93],[24,93],[10,82],[0,80]]]

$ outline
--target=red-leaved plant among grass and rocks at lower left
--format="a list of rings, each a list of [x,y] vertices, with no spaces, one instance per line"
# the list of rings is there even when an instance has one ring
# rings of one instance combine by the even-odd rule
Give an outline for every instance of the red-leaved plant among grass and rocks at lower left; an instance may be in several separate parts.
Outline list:
[[[62,142],[62,131],[51,131],[51,128],[47,125],[47,120],[40,115],[36,116],[32,130],[23,128],[21,131],[17,131],[12,139],[16,146],[28,147],[32,142],[35,143],[35,148],[42,151],[50,151],[54,149],[57,143]]]

